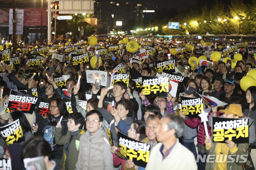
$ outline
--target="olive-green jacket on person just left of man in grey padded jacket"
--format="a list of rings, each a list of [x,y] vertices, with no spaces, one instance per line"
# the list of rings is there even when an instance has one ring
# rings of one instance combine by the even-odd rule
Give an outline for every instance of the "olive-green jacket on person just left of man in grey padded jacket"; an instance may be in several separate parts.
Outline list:
[[[84,130],[80,130],[79,134],[75,138],[73,138],[70,142],[68,170],[74,170],[76,168],[76,162],[78,160],[78,154],[79,154],[80,136],[84,133],[85,133]],[[56,128],[55,130],[56,144],[65,146],[66,143],[69,141],[70,137],[71,137],[70,131],[68,131],[66,135],[62,135],[62,128]],[[65,149],[63,149],[61,168],[64,169],[66,161],[67,160],[66,160]]]

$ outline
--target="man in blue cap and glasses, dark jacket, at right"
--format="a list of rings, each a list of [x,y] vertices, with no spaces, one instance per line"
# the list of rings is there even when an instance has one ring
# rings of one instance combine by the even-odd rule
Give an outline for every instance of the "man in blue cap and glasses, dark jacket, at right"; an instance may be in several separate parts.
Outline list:
[[[226,101],[226,99],[232,97],[232,96],[240,96],[238,93],[234,93],[235,89],[235,83],[236,81],[232,78],[229,78],[224,83],[224,90],[225,93],[220,95],[220,101]]]

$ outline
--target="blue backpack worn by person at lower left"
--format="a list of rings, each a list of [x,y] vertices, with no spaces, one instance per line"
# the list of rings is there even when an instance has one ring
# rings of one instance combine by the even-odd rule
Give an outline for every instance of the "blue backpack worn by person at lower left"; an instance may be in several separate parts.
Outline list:
[[[57,151],[59,146],[55,143],[55,126],[56,122],[50,122],[44,127],[44,139],[50,144],[52,151]]]

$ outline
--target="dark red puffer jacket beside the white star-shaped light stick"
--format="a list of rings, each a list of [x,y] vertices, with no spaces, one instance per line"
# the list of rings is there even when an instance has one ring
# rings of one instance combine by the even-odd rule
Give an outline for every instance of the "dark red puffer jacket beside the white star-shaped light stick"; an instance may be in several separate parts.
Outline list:
[[[210,111],[210,113],[208,114],[208,120],[210,115],[212,114],[212,111]],[[220,113],[219,111],[217,112],[217,117],[220,117],[220,115],[222,115],[222,113]],[[198,144],[204,146],[204,139],[205,139],[205,132],[204,132],[204,123],[201,122],[201,118],[194,118],[193,120],[187,118],[184,123],[186,123],[186,125],[188,125],[188,127],[190,128],[196,128],[199,125],[199,129],[197,132],[197,142]],[[211,137],[212,136],[212,128],[209,127],[209,123],[207,122],[207,129],[208,129],[208,134]]]

